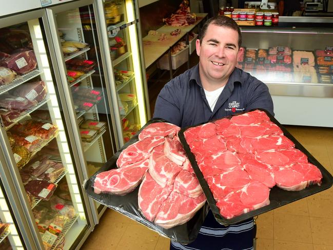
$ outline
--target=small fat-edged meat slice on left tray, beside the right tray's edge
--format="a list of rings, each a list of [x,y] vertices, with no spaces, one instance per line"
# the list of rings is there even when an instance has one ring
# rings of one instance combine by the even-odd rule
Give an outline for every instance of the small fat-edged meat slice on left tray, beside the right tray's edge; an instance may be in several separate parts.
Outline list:
[[[186,160],[186,154],[182,144],[176,137],[166,138],[164,143],[164,155],[175,164],[182,166]]]

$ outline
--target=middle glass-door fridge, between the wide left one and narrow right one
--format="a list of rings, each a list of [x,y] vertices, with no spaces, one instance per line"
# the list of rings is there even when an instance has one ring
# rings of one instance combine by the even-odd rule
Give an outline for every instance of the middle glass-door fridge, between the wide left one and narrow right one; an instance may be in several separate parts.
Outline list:
[[[100,1],[99,1],[100,2]],[[112,89],[105,75],[99,20],[94,1],[71,2],[47,9],[49,44],[58,66],[57,82],[71,124],[75,161],[84,179],[91,177],[119,148]],[[106,207],[90,199],[95,223]]]

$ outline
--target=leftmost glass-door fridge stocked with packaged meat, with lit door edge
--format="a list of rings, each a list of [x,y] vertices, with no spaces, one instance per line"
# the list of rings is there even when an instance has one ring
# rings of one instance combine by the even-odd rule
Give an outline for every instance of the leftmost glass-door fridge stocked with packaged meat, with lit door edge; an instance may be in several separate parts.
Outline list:
[[[24,222],[18,229],[30,235],[27,242],[69,249],[82,244],[94,221],[70,145],[48,26],[45,9],[0,18],[1,178],[12,183],[5,192],[16,197],[22,213],[15,219]]]

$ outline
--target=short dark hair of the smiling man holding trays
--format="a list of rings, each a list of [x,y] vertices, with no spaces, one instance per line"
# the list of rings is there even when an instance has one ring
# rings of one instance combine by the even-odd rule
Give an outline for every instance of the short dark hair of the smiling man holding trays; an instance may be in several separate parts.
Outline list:
[[[200,44],[202,44],[202,39],[204,38],[208,25],[210,24],[214,24],[217,26],[221,26],[221,27],[226,27],[226,28],[230,28],[233,30],[236,30],[238,32],[238,47],[240,48],[242,45],[242,33],[241,30],[238,26],[238,24],[233,21],[230,17],[227,17],[225,15],[218,15],[218,16],[214,16],[209,18],[206,23],[202,26],[202,28],[200,29],[199,32],[199,39],[200,39]]]

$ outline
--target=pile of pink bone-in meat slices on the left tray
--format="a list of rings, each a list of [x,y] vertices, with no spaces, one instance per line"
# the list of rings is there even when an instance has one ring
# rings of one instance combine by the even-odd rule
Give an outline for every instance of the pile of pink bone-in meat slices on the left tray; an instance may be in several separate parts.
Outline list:
[[[177,137],[178,126],[152,123],[139,141],[124,149],[116,169],[101,172],[96,194],[125,195],[141,182],[138,205],[142,215],[164,228],[189,221],[206,197]]]

